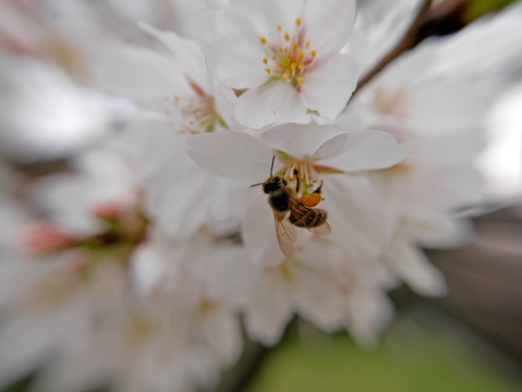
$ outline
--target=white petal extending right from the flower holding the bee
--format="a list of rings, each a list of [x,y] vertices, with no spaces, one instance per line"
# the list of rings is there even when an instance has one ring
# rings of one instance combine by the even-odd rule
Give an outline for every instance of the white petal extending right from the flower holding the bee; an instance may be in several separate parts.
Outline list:
[[[323,163],[345,171],[389,168],[402,161],[410,152],[406,144],[397,143],[386,132],[365,131],[348,135],[344,154]]]

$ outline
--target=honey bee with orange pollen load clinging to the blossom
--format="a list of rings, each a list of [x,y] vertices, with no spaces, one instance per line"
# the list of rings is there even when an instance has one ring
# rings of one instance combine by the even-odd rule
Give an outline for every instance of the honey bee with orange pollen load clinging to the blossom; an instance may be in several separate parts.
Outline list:
[[[276,223],[276,234],[279,247],[284,256],[293,255],[298,235],[294,226],[305,228],[314,234],[327,235],[331,233],[331,228],[326,221],[325,210],[315,207],[321,199],[320,191],[323,183],[311,194],[295,198],[299,189],[299,177],[296,191],[290,188],[281,175],[272,175],[274,160],[270,167],[270,176],[263,183],[252,186],[263,185],[263,192],[268,195],[268,204],[274,211],[274,221]],[[294,174],[299,174],[294,171]],[[290,213],[289,213],[290,212]],[[286,219],[288,216],[288,220]]]

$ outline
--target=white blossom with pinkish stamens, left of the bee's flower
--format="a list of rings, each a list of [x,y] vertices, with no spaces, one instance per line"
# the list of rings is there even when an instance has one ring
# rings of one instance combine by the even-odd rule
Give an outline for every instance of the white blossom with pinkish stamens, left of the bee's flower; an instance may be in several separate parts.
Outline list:
[[[100,49],[96,86],[147,110],[129,118],[125,132],[110,145],[135,169],[146,191],[144,211],[167,234],[190,236],[214,223],[232,230],[228,219],[238,223],[245,193],[233,181],[194,164],[184,146],[189,135],[233,126],[230,102],[235,96],[215,83],[195,42],[147,25],[142,28],[165,48],[119,42]],[[144,68],[155,72],[144,75]]]

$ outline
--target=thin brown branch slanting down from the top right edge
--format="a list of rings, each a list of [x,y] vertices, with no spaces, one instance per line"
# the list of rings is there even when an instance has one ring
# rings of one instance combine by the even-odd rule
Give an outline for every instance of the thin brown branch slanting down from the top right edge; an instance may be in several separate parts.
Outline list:
[[[404,33],[402,39],[372,69],[359,81],[357,88],[353,91],[355,96],[366,84],[368,84],[376,75],[380,73],[390,62],[401,56],[409,49],[412,49],[417,44],[417,35],[421,27],[424,25],[426,15],[432,7],[432,0],[425,0],[413,20],[410,28]]]

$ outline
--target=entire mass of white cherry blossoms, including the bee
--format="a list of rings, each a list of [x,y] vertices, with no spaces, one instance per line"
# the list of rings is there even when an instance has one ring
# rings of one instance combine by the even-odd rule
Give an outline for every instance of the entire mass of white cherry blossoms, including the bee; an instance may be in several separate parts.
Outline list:
[[[0,384],[210,388],[295,316],[372,343],[391,289],[445,294],[421,247],[472,236],[479,114],[522,53],[482,37],[520,39],[520,5],[357,87],[420,1],[159,3],[0,4],[25,26],[0,27],[2,124],[84,139],[2,204]]]

